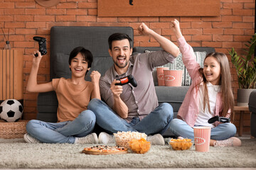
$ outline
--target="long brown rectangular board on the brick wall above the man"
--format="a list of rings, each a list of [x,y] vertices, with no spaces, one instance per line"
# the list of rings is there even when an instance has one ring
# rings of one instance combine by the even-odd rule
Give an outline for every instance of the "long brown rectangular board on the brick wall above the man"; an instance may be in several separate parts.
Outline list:
[[[220,0],[98,0],[98,16],[219,16]]]

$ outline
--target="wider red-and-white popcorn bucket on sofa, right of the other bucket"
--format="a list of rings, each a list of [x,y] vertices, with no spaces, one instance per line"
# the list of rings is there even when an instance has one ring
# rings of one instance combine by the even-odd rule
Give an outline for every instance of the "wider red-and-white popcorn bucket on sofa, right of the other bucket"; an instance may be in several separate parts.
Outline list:
[[[165,86],[181,86],[182,76],[182,70],[164,70]]]

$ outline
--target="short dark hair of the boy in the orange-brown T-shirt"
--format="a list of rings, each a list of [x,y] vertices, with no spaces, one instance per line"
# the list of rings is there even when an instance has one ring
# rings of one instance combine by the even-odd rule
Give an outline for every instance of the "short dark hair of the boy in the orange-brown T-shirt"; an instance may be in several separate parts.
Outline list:
[[[82,57],[84,58],[84,60],[87,62],[88,64],[88,68],[92,67],[92,60],[93,60],[93,56],[92,56],[92,52],[90,52],[89,50],[86,50],[84,47],[75,47],[72,52],[70,52],[70,57],[68,59],[68,64],[71,64],[71,60],[78,55],[78,53],[81,53]],[[88,72],[88,71],[87,71]],[[87,74],[86,72],[86,74]],[[86,75],[85,74],[85,75]]]

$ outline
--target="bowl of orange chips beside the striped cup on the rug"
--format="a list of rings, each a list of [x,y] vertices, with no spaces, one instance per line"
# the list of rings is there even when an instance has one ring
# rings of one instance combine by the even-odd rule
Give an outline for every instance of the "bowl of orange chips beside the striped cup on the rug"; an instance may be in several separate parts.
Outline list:
[[[187,150],[190,149],[193,145],[191,139],[184,138],[184,139],[171,139],[169,141],[169,145],[174,150]]]

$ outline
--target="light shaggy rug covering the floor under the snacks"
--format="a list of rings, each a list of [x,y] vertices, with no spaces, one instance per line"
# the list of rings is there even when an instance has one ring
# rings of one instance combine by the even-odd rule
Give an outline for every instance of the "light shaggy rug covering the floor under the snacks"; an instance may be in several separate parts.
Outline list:
[[[243,139],[242,147],[210,147],[210,152],[174,151],[152,146],[146,154],[88,155],[92,145],[28,144],[23,139],[0,139],[1,169],[115,169],[115,168],[255,168],[256,139]]]

